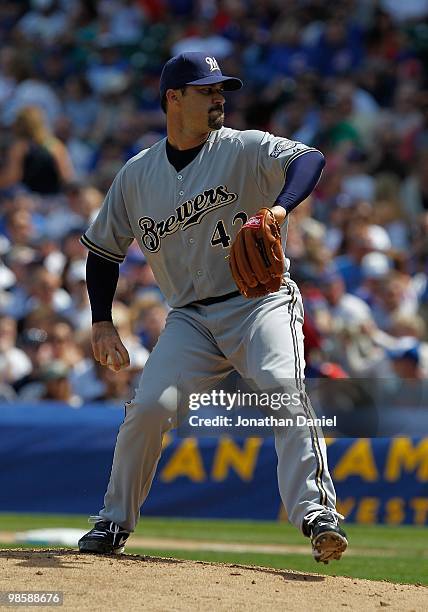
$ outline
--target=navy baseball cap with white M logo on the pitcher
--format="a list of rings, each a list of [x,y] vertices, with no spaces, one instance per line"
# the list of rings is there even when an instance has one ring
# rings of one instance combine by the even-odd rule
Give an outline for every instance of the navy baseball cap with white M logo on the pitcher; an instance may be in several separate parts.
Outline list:
[[[160,97],[167,89],[180,89],[185,85],[213,85],[223,83],[224,89],[241,89],[242,81],[222,74],[217,60],[212,55],[189,51],[167,61],[160,78]]]

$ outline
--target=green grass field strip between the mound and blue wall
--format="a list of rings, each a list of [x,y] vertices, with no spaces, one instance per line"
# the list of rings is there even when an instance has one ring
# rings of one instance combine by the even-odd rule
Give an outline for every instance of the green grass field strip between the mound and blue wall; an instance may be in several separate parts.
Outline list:
[[[1,514],[0,533],[54,527],[85,530],[86,516]],[[346,531],[350,548],[340,562],[316,564],[310,554],[309,541],[292,526],[285,523],[182,520],[144,518],[136,535],[146,538],[186,541],[186,547],[168,550],[160,541],[156,548],[132,548],[128,552],[170,556],[182,559],[262,565],[295,569],[327,575],[352,576],[369,580],[388,580],[409,584],[428,585],[428,530],[423,527],[390,527],[348,525]],[[189,550],[189,541],[193,546]],[[204,542],[246,544],[248,552],[204,550]],[[251,545],[307,545],[307,554],[260,553],[251,551]],[[11,544],[1,542],[0,548]]]

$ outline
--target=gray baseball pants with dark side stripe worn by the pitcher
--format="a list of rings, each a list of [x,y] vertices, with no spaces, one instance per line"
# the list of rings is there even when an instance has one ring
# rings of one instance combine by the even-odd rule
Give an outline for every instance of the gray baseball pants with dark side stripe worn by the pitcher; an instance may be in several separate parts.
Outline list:
[[[302,325],[300,292],[290,280],[263,298],[238,295],[208,306],[173,309],[135,397],[126,405],[100,516],[127,531],[135,529],[160,458],[162,436],[175,425],[175,388],[202,393],[232,370],[262,391],[284,388],[284,381],[294,379],[299,384],[305,367]],[[298,413],[313,416],[303,395]],[[293,409],[292,416],[296,414]],[[335,508],[325,441],[315,427],[281,428],[274,435],[281,499],[290,521],[301,529],[308,512]]]

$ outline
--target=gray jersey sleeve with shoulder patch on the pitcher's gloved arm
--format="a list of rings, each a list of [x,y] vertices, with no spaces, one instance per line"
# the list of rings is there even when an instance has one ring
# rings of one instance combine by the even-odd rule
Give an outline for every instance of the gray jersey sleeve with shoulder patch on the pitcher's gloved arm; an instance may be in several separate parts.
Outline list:
[[[269,132],[249,130],[246,134],[244,146],[248,147],[257,185],[263,196],[270,199],[273,193],[278,195],[283,188],[290,164],[309,151],[318,151]]]

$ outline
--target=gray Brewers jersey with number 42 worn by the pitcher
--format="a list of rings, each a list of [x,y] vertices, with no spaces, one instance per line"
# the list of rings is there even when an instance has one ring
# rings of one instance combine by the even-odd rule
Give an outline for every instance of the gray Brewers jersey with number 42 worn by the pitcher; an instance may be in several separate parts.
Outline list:
[[[176,172],[165,143],[122,168],[82,242],[121,263],[135,238],[168,303],[178,307],[236,290],[226,259],[232,240],[249,216],[274,204],[289,164],[314,149],[222,128]]]

